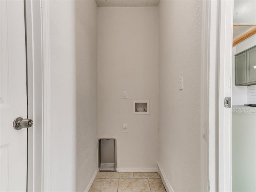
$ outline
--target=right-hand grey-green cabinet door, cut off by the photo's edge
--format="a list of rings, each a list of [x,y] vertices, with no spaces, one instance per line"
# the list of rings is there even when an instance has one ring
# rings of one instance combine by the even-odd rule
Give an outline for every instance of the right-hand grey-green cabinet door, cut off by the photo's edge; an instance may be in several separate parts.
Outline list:
[[[256,47],[247,51],[247,82],[256,82]]]

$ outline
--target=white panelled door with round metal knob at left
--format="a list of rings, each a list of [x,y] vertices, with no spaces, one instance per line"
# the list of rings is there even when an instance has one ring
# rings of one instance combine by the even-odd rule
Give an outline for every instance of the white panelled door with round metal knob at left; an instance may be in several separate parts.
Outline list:
[[[12,126],[27,118],[23,0],[0,0],[0,22],[0,191],[26,191],[27,129]]]

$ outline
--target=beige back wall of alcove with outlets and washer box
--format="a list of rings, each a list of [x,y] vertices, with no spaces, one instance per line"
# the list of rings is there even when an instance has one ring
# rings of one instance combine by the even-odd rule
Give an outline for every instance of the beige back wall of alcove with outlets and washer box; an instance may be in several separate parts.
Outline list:
[[[157,170],[158,100],[158,7],[98,8],[98,137],[116,138],[119,171]]]

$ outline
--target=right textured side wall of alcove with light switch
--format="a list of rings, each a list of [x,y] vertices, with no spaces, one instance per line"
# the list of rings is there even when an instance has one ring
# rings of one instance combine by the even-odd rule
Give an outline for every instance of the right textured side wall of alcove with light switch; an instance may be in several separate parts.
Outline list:
[[[158,164],[168,190],[201,191],[201,11],[199,0],[159,4]]]

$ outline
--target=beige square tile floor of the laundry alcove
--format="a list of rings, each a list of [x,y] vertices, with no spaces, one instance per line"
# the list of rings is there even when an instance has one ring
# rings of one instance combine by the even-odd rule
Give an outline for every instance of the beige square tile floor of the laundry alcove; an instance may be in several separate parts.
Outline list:
[[[89,192],[166,192],[158,173],[98,172]]]

